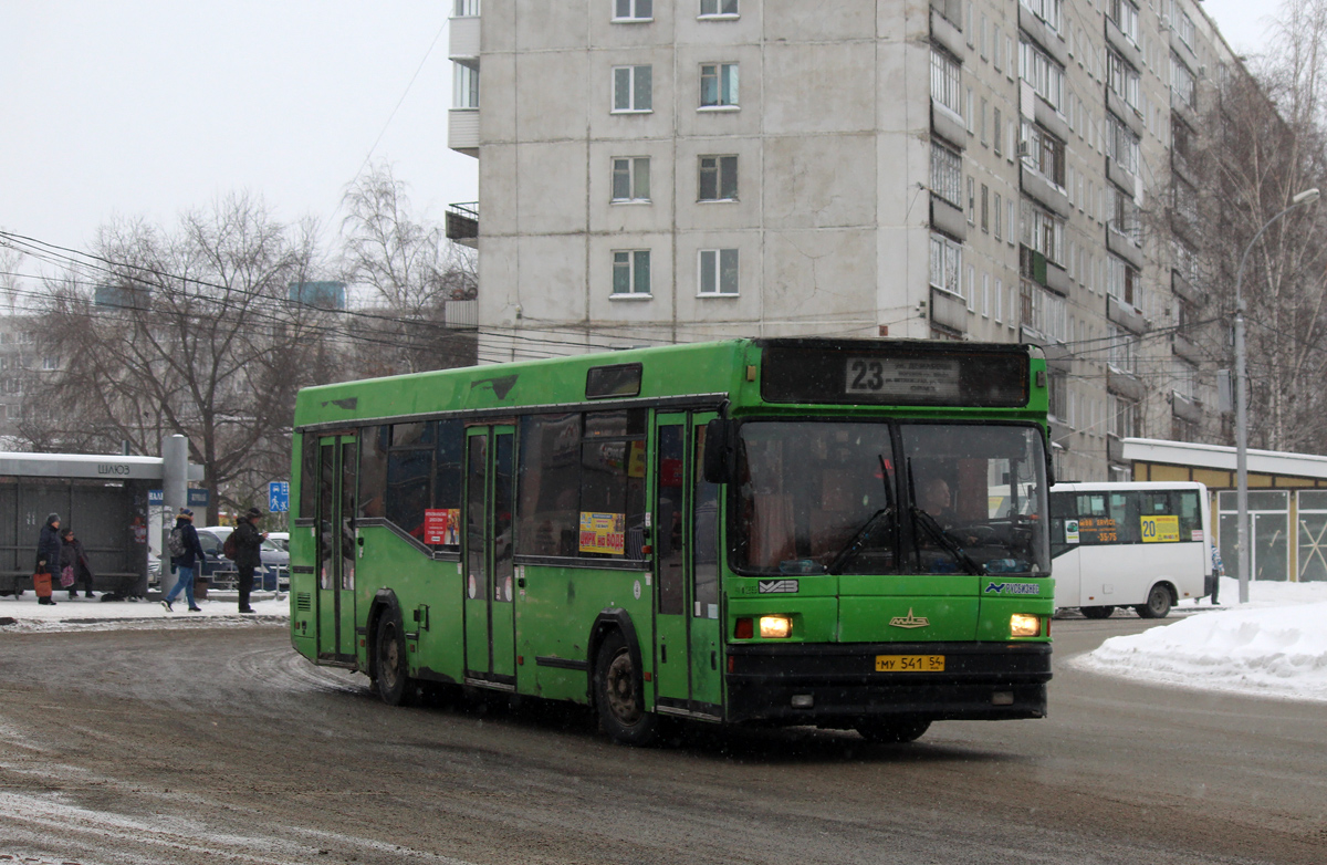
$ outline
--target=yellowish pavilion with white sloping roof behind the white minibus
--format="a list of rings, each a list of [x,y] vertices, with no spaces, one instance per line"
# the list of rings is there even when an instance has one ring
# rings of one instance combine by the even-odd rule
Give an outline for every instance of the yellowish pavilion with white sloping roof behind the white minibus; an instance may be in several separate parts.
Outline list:
[[[1119,439],[1133,480],[1197,480],[1213,498],[1209,527],[1226,573],[1234,574],[1239,533],[1235,448],[1164,439]],[[1249,451],[1250,577],[1327,581],[1327,456]]]

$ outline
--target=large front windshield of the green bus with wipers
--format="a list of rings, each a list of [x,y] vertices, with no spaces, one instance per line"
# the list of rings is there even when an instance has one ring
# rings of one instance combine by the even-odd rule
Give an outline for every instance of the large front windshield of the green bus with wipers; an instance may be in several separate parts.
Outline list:
[[[752,421],[739,432],[742,573],[1048,574],[1034,426]]]

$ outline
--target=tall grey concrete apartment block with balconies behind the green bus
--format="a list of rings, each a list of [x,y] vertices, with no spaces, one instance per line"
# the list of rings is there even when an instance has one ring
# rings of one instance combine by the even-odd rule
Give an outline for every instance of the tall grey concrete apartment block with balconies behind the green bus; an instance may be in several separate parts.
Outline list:
[[[1212,411],[1182,157],[1235,60],[1193,0],[455,0],[450,53],[486,358],[1035,342],[1079,479]]]

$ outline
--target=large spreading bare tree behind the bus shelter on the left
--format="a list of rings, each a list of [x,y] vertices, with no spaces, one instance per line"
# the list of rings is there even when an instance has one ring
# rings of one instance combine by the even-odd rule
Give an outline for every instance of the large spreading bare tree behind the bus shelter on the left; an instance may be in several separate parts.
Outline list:
[[[38,448],[127,440],[155,454],[183,434],[204,467],[210,519],[222,501],[251,504],[289,471],[295,391],[336,377],[309,338],[313,310],[288,300],[316,265],[313,236],[243,195],[186,214],[169,233],[105,227],[101,269],[48,285],[41,336],[62,369],[29,394],[25,435]]]

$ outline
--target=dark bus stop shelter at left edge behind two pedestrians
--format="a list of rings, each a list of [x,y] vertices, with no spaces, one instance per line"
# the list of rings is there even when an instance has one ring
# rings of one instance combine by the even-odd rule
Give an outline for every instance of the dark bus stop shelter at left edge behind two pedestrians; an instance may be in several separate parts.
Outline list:
[[[190,478],[202,467],[188,466]],[[0,589],[32,588],[37,539],[50,513],[73,527],[98,592],[147,592],[149,492],[161,456],[0,452]]]

